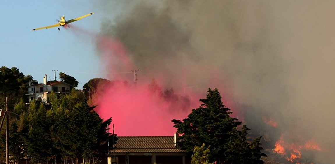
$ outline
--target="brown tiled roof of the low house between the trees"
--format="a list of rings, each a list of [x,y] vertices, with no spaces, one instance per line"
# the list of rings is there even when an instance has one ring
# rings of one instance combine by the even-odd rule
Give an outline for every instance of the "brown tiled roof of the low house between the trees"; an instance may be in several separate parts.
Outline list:
[[[186,153],[174,142],[173,136],[118,137],[115,153]]]

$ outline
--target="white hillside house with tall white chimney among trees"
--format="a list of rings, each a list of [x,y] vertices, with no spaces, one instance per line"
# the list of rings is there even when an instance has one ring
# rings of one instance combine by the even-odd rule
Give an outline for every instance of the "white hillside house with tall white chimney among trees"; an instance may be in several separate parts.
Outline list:
[[[45,103],[47,103],[48,96],[52,91],[56,94],[64,94],[69,93],[72,90],[72,86],[63,81],[47,83],[47,75],[44,75],[43,83],[38,83],[37,80],[32,80],[27,88],[28,93],[25,95],[28,97],[29,102],[41,98]]]

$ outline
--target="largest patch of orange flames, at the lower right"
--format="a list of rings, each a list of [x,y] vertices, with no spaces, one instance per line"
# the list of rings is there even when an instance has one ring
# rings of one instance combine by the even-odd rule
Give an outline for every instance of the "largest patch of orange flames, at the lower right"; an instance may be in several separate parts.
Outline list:
[[[275,143],[273,152],[286,157],[287,161],[294,162],[295,159],[301,158],[301,151],[303,150],[321,151],[321,148],[314,140],[308,140],[305,144],[299,144],[298,142],[287,142],[284,140],[283,135],[281,135],[280,139]]]

